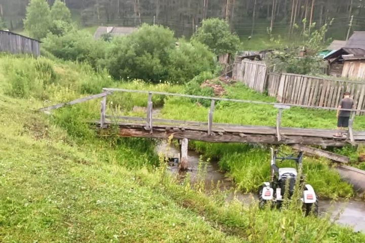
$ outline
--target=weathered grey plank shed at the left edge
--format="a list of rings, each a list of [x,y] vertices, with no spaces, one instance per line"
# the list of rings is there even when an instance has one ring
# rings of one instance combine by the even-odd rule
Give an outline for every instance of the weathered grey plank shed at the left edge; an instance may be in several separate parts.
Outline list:
[[[0,52],[40,56],[41,42],[8,30],[0,30]]]

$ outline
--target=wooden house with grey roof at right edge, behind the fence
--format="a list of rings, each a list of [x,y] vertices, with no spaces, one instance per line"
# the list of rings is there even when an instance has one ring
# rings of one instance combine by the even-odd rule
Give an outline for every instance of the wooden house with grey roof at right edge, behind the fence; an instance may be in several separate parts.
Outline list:
[[[365,31],[355,31],[339,50],[324,57],[329,74],[353,79],[365,78]]]

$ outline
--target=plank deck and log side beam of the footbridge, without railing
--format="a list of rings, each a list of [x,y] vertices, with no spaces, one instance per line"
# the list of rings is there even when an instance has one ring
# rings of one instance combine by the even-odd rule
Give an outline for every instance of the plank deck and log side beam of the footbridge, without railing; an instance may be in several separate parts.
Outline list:
[[[164,121],[163,119],[159,119]],[[165,120],[165,123],[171,120]],[[100,125],[99,121],[94,122]],[[335,138],[336,130],[280,128],[281,140],[276,136],[276,127],[240,126],[231,124],[213,124],[210,135],[207,126],[156,124],[153,120],[153,131],[145,123],[119,122],[106,120],[104,128],[111,125],[119,127],[121,137],[139,137],[167,139],[171,135],[175,139],[188,138],[191,140],[221,143],[262,143],[262,144],[302,144],[318,145],[322,147],[344,146],[349,141],[346,138]],[[365,132],[354,132],[357,143],[365,142]]]

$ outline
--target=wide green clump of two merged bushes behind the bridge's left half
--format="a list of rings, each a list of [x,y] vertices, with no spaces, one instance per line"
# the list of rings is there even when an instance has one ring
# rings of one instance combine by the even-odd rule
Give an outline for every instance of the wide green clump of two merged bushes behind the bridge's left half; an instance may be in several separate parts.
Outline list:
[[[202,71],[212,71],[214,55],[198,42],[183,39],[176,46],[174,33],[162,26],[142,25],[138,31],[115,38],[105,66],[116,79],[169,80],[186,83]]]

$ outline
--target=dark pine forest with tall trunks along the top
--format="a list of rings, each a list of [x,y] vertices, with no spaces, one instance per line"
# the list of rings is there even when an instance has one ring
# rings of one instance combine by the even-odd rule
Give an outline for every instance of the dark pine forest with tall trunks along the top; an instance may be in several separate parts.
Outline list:
[[[28,0],[1,0],[0,12],[10,29],[21,28]],[[54,0],[48,0],[49,5]],[[62,0],[82,26],[138,26],[156,23],[170,27],[177,36],[190,36],[202,20],[227,20],[241,37],[289,37],[296,31],[325,23],[329,33],[345,39],[365,27],[362,0]],[[352,17],[353,16],[353,17]],[[352,19],[352,21],[351,21]],[[305,21],[304,21],[305,20]]]

